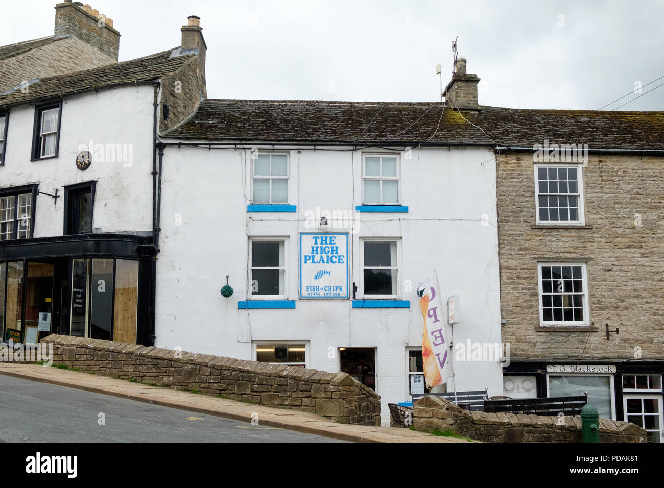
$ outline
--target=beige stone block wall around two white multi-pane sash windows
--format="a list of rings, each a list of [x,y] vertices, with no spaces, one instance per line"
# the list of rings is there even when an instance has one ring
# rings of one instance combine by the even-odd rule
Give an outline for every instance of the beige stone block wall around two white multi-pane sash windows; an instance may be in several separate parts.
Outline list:
[[[542,141],[543,143],[543,141]],[[502,340],[515,359],[661,361],[664,157],[590,155],[586,226],[536,225],[533,153],[497,157]],[[540,327],[538,262],[586,262],[594,327]],[[606,340],[605,324],[620,328]]]

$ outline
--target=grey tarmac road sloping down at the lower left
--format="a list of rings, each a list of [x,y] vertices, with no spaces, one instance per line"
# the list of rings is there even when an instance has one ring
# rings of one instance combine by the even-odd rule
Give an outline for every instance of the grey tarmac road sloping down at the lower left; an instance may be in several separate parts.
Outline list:
[[[258,420],[252,425],[0,374],[0,442],[343,442]]]

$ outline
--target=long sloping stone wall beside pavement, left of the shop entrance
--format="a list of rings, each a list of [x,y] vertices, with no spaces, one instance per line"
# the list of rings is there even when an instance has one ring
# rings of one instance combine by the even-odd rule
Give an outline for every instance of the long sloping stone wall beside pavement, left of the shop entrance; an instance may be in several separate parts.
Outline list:
[[[341,424],[380,426],[380,396],[344,372],[273,365],[52,334],[53,364],[232,400],[295,408]]]

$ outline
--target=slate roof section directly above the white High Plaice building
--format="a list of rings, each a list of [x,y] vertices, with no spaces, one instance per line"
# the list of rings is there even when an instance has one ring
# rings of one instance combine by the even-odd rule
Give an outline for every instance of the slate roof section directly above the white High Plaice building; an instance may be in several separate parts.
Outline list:
[[[405,102],[208,99],[167,137],[357,145],[369,141],[492,145],[481,130],[449,107],[443,112],[440,103]]]

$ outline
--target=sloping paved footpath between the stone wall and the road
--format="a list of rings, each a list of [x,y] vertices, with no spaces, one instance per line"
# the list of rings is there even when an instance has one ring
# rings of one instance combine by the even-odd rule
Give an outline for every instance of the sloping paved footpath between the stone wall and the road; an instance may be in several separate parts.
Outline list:
[[[288,429],[350,442],[467,442],[463,439],[431,436],[406,428],[337,424],[316,414],[287,408],[248,404],[205,394],[160,386],[149,386],[117,378],[97,376],[50,366],[25,363],[0,363],[0,374],[26,380],[77,388],[88,392],[118,396],[187,412],[247,422],[258,428]],[[103,412],[103,410],[100,410]],[[252,422],[253,421],[253,422]],[[176,439],[171,439],[175,441]]]

